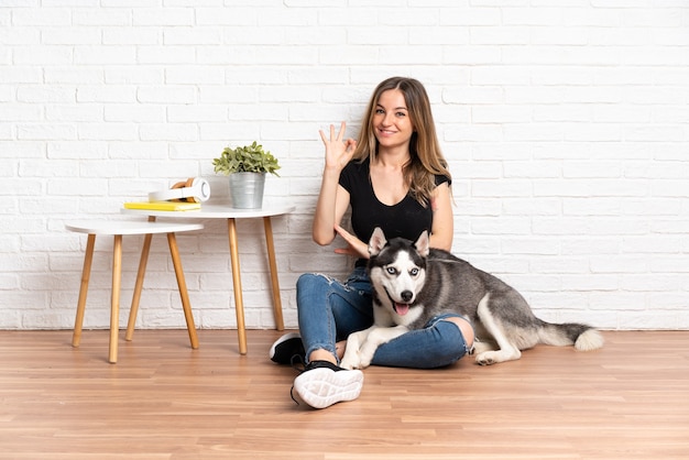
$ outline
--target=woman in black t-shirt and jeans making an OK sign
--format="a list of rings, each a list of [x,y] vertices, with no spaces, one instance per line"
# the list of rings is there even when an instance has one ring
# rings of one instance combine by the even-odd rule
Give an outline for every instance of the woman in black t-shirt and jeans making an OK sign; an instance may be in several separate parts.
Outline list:
[[[451,177],[440,152],[430,103],[424,86],[403,77],[389,78],[375,88],[359,140],[344,140],[344,122],[336,132],[320,131],[326,161],[314,216],[313,238],[321,245],[336,236],[348,248],[337,253],[358,258],[342,283],[307,273],[297,281],[299,335],[280,338],[270,357],[289,363],[293,354],[306,359],[294,381],[294,392],[316,408],[359,397],[363,373],[338,366],[347,337],[373,324],[372,286],[365,272],[368,242],[375,227],[385,237],[416,241],[428,230],[430,245],[452,244]],[[340,222],[351,207],[351,228]],[[381,346],[372,364],[438,368],[464,355],[473,343],[471,325],[459,315],[431,319]]]

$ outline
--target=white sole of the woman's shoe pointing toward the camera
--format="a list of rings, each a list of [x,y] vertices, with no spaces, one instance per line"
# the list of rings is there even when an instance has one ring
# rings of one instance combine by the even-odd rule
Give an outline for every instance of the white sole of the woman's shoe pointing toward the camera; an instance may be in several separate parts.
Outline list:
[[[294,390],[309,406],[322,409],[336,403],[359,397],[363,386],[363,372],[311,369],[294,380]]]

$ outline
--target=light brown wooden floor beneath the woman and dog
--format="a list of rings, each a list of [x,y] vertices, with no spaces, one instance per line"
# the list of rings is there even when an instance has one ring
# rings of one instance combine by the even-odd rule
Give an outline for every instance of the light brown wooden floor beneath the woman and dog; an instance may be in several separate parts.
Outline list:
[[[2,459],[689,458],[689,331],[604,332],[595,352],[538,347],[482,368],[370,368],[358,401],[289,398],[273,330],[0,331]],[[121,335],[122,337],[122,335]]]

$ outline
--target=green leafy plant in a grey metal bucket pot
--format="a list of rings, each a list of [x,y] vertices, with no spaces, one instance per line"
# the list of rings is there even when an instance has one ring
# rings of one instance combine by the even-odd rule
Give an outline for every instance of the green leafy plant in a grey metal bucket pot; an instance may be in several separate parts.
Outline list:
[[[228,176],[232,206],[240,209],[261,208],[266,173],[280,177],[277,158],[255,141],[251,145],[225,147],[212,165],[216,173]]]

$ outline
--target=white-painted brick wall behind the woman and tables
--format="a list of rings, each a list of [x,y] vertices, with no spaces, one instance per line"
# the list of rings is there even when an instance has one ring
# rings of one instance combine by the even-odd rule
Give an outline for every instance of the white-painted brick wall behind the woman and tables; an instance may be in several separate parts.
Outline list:
[[[41,7],[36,6],[41,4]],[[163,4],[163,6],[161,6]],[[554,7],[557,4],[557,7]],[[267,202],[296,326],[305,271],[347,261],[310,241],[318,129],[354,134],[375,84],[425,83],[455,175],[455,252],[548,320],[689,328],[689,3],[339,0],[0,2],[0,328],[70,328],[85,217],[258,140],[282,162]],[[178,241],[196,321],[236,325],[226,228]],[[241,221],[247,324],[273,326],[260,221]],[[124,240],[125,314],[141,239]],[[98,241],[86,326],[107,327]],[[183,327],[155,238],[140,327]]]

